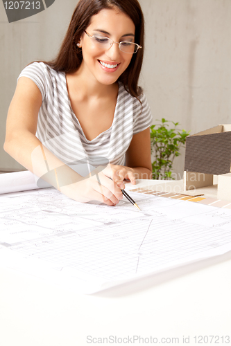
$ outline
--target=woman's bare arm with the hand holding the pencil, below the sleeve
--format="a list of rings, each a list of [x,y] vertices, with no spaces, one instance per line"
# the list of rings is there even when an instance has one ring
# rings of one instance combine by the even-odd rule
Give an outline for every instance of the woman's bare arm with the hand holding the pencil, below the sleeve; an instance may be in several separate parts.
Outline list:
[[[42,176],[42,179],[71,199],[82,202],[97,200],[109,206],[117,204],[123,197],[117,184],[102,172],[97,176],[92,174],[88,179],[83,179],[49,152],[35,136],[41,105],[42,95],[36,84],[29,78],[19,78],[8,111],[5,151],[36,176]],[[58,176],[58,170],[57,172],[55,170],[61,166],[62,176]],[[51,174],[47,174],[48,171]]]

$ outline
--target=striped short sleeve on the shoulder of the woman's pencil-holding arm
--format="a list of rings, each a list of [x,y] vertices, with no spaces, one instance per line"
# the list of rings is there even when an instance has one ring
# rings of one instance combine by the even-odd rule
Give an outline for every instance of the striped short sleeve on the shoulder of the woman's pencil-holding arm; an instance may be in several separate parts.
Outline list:
[[[25,67],[19,75],[20,77],[27,77],[33,80],[40,89],[42,94],[42,100],[46,95],[46,79],[49,78],[49,68],[43,62],[33,62],[32,64]],[[19,80],[19,78],[17,80]]]

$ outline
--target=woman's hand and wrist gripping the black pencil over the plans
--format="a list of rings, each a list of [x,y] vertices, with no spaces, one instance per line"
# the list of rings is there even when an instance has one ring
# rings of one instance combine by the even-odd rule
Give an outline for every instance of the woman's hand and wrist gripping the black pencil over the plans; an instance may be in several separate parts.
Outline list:
[[[92,172],[88,178],[62,186],[60,191],[78,202],[100,201],[108,206],[117,205],[123,198],[121,188],[103,172]]]

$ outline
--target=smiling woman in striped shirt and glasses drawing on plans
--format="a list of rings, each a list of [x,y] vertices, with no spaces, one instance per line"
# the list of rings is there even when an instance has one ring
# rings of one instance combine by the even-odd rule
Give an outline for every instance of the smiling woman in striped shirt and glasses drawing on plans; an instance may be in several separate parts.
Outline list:
[[[124,179],[151,177],[142,47],[137,0],[80,0],[58,57],[19,75],[6,152],[71,199],[116,205]]]

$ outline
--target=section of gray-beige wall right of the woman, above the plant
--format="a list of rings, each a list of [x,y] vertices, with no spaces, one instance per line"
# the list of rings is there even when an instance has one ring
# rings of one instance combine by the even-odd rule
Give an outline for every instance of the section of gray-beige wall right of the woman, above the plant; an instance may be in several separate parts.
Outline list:
[[[142,84],[153,122],[191,134],[231,124],[231,1],[141,0],[146,18]],[[182,156],[176,172],[182,174]]]

